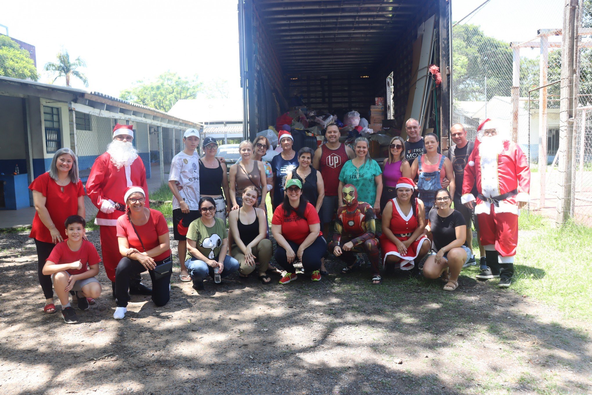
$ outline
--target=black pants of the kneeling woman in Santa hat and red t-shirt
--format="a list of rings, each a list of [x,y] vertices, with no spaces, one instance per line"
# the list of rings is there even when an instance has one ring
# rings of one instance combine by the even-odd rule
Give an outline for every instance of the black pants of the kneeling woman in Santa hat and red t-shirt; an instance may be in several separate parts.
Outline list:
[[[157,263],[160,261],[157,261]],[[127,307],[130,296],[127,290],[130,288],[130,278],[134,275],[145,272],[147,269],[138,261],[130,258],[121,258],[115,269],[115,297],[117,307]],[[154,271],[149,270],[152,279],[152,301],[156,306],[165,306],[170,299],[170,274],[155,280]]]

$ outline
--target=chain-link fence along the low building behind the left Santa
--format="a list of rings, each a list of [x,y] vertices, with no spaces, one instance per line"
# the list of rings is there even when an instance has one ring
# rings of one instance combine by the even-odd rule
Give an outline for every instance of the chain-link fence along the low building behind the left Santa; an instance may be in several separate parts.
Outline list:
[[[168,179],[170,162],[176,153],[182,150],[182,133],[180,129],[160,127],[149,122],[130,122],[123,119],[99,117],[97,115],[70,111],[71,149],[78,156],[79,172],[83,183],[86,183],[95,159],[102,155],[112,142],[115,123],[132,124],[134,129],[133,145],[146,168],[146,178],[150,191],[162,185],[160,174],[160,139],[162,134],[162,176]],[[89,198],[85,198],[86,219],[96,216],[97,209]]]

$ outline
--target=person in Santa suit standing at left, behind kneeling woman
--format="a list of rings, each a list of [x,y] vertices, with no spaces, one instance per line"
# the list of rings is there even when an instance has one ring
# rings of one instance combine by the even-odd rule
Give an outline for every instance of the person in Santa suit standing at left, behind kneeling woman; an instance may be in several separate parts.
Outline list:
[[[113,128],[113,141],[107,152],[95,159],[91,174],[86,181],[86,194],[96,205],[95,224],[99,225],[101,253],[105,273],[112,282],[115,297],[115,268],[121,260],[117,242],[117,219],[124,214],[126,202],[124,194],[131,185],[139,185],[148,202],[146,169],[137,150],[131,144],[134,139],[133,126],[116,124]],[[140,275],[130,281],[130,293],[150,295],[152,290],[140,282]]]

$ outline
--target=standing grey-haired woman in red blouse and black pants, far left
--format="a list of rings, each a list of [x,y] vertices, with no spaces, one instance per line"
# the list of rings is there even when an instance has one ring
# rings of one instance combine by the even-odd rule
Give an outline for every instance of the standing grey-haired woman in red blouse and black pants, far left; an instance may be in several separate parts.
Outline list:
[[[66,239],[66,218],[75,215],[84,218],[86,215],[86,194],[78,178],[78,159],[72,150],[57,150],[49,172],[34,179],[29,189],[33,191],[33,203],[37,210],[29,237],[35,240],[37,248],[37,275],[46,299],[43,311],[52,314],[56,312],[52,276],[43,274],[43,266],[54,246]]]

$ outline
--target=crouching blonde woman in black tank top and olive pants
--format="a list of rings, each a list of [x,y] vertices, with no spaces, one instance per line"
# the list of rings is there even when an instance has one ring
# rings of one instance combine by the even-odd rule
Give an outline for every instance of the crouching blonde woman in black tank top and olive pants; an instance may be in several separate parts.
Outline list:
[[[274,252],[271,240],[267,237],[267,217],[265,211],[256,208],[259,191],[247,185],[243,192],[243,205],[239,210],[230,211],[228,224],[233,236],[232,257],[239,261],[240,277],[248,277],[259,262],[259,281],[269,284],[271,278],[266,274]]]

